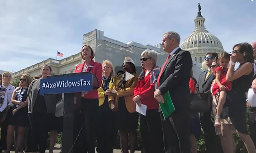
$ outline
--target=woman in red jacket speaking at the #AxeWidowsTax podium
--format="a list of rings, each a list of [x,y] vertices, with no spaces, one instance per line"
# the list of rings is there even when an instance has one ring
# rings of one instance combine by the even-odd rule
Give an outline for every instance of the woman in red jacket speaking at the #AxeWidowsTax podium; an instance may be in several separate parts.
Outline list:
[[[95,62],[93,58],[95,53],[89,45],[84,45],[81,49],[81,58],[84,59],[82,64],[75,68],[75,73],[90,72],[96,75],[98,84],[101,85],[102,66]],[[95,137],[96,137],[96,113],[99,107],[98,89],[91,92],[82,92],[81,98],[82,112],[84,115],[85,143],[84,152],[95,153]]]

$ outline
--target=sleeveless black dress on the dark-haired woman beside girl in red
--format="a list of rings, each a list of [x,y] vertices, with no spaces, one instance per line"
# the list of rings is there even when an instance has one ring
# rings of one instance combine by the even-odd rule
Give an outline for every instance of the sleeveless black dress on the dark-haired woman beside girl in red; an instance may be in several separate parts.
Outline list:
[[[241,67],[240,64],[238,69]],[[254,71],[232,81],[232,90],[227,92],[226,103],[228,115],[235,129],[240,133],[248,134],[246,129],[246,97],[245,93],[251,86]]]

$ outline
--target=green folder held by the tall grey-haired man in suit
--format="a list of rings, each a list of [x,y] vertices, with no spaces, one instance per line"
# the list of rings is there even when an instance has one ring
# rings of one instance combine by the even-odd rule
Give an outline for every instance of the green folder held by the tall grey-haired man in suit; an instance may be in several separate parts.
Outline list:
[[[163,117],[166,119],[175,111],[175,108],[168,91],[163,95],[163,100],[165,102],[163,104],[159,103],[159,106],[163,113]]]

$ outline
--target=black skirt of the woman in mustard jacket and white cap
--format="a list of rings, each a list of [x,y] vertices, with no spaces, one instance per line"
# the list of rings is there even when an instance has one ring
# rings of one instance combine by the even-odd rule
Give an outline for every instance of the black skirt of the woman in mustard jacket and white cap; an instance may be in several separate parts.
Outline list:
[[[139,115],[137,112],[128,112],[124,97],[119,98],[117,111],[118,130],[136,130],[138,128]]]

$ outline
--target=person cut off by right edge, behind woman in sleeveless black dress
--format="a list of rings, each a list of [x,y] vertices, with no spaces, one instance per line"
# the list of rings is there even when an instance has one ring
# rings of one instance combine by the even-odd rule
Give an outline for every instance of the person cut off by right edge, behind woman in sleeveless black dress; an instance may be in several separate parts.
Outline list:
[[[256,60],[256,42],[253,42],[251,44],[253,52],[254,52],[254,59]],[[252,85],[256,84],[256,62],[254,62],[254,81],[252,82]],[[252,88],[254,88],[252,86]],[[251,107],[248,105],[247,102],[247,110],[248,110],[248,116],[249,116],[249,131],[250,131],[250,136],[251,139],[254,143],[254,146],[256,146],[256,121],[255,121],[255,116],[256,116],[256,107]]]

